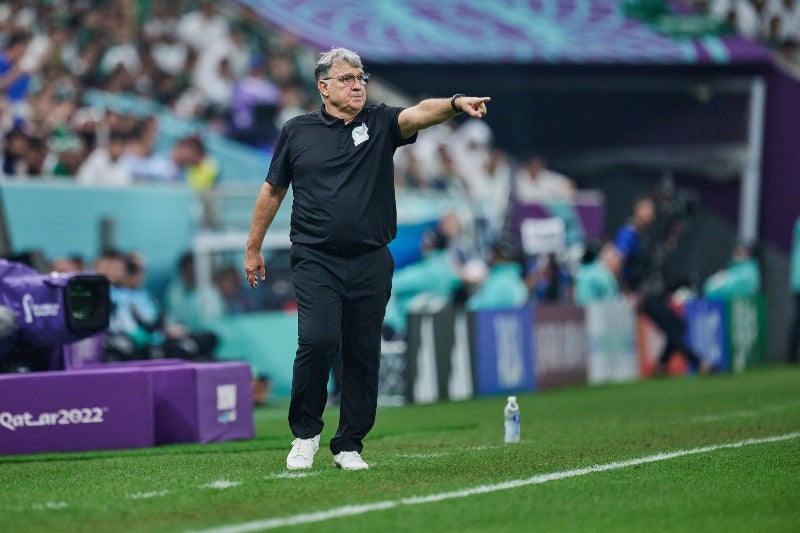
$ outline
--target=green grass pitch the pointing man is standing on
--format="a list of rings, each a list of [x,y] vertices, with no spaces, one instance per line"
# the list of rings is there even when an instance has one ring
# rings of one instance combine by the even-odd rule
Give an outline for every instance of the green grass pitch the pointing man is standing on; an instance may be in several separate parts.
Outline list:
[[[331,410],[289,474],[285,404],[250,441],[0,457],[0,531],[800,531],[800,368],[519,402],[513,445],[505,398],[381,408],[361,472]]]

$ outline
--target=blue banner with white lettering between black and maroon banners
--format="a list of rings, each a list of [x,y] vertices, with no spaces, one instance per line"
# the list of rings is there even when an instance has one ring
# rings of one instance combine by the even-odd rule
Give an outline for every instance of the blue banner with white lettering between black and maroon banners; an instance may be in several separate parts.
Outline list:
[[[533,390],[531,307],[477,311],[470,316],[477,393]]]

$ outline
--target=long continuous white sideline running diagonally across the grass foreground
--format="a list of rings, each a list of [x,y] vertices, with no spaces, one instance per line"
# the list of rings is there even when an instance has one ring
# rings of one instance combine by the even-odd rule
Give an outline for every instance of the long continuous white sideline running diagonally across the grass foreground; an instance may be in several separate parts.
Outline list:
[[[595,472],[607,472],[609,470],[618,470],[620,468],[628,468],[646,463],[655,463],[658,461],[666,461],[668,459],[675,459],[676,457],[685,457],[687,455],[697,455],[700,453],[714,452],[717,450],[726,450],[731,448],[742,448],[744,446],[752,446],[754,444],[766,444],[771,442],[780,442],[784,440],[796,439],[800,437],[800,431],[794,433],[786,433],[784,435],[776,435],[774,437],[764,437],[760,439],[745,439],[739,442],[729,442],[725,444],[714,444],[711,446],[703,446],[701,448],[691,448],[688,450],[677,450],[674,452],[657,453],[655,455],[648,455],[646,457],[639,457],[637,459],[629,459],[627,461],[614,461],[613,463],[606,463],[602,465],[589,466],[586,468],[577,468],[574,470],[565,470],[563,472],[552,472],[550,474],[540,474],[525,479],[514,479],[505,481],[503,483],[495,483],[494,485],[482,485],[472,487],[470,489],[457,490],[452,492],[441,492],[439,494],[430,494],[428,496],[412,496],[410,498],[401,498],[399,500],[387,500],[375,503],[366,503],[363,505],[347,505],[344,507],[336,507],[327,511],[319,511],[316,513],[303,513],[294,516],[287,516],[284,518],[270,518],[266,520],[256,520],[253,522],[244,522],[242,524],[233,524],[230,526],[222,526],[218,528],[205,529],[198,533],[246,533],[249,531],[263,531],[265,529],[273,529],[276,527],[296,526],[298,524],[310,524],[313,522],[323,522],[331,518],[341,518],[343,516],[353,516],[368,513],[371,511],[382,511],[385,509],[392,509],[401,505],[416,505],[421,503],[440,502],[442,500],[451,500],[454,498],[466,498],[467,496],[474,496],[476,494],[486,494],[489,492],[497,492],[499,490],[514,489],[524,487],[527,485],[539,485],[547,483],[548,481],[555,481],[558,479],[566,479],[570,477],[585,476]]]

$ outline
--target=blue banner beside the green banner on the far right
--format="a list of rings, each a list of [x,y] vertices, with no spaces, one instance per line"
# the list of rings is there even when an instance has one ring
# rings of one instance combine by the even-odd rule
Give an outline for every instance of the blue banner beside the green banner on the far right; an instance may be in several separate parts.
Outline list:
[[[684,305],[686,341],[698,357],[724,372],[730,369],[725,334],[725,303],[721,300],[696,298]]]

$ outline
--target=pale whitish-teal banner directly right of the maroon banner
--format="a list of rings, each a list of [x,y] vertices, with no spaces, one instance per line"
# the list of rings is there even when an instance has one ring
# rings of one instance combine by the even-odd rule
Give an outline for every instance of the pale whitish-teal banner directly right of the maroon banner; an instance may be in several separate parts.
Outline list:
[[[585,308],[589,335],[589,383],[639,378],[636,312],[625,300],[595,302]]]

